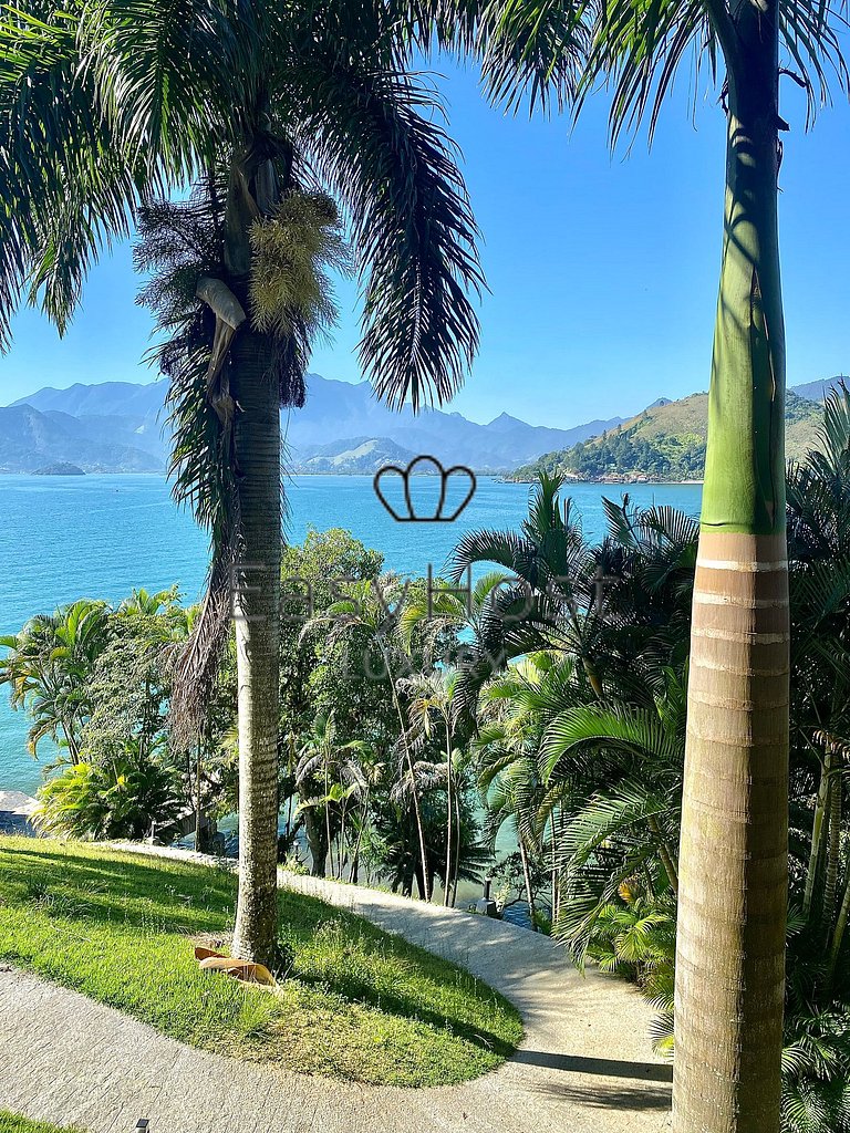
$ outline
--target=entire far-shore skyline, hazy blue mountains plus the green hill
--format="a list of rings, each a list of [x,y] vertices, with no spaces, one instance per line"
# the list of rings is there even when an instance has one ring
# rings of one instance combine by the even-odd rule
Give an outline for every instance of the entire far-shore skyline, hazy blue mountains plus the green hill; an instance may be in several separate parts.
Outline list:
[[[791,457],[810,448],[818,402],[840,378],[792,386],[787,404]],[[37,472],[73,463],[85,472],[161,472],[168,460],[167,381],[45,387],[0,408],[0,471]],[[287,467],[294,472],[367,472],[420,453],[477,472],[533,477],[539,468],[581,479],[698,479],[705,462],[708,395],[658,398],[636,417],[559,429],[502,414],[478,425],[459,412],[393,412],[367,382],[307,376],[304,409],[284,410]]]

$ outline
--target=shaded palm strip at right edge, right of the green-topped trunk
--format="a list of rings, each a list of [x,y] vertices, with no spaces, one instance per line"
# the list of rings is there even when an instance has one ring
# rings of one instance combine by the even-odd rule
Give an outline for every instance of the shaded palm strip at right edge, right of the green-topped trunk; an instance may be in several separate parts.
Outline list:
[[[791,915],[783,1118],[792,1133],[850,1121],[845,1083],[850,858],[850,393],[827,399],[817,445],[788,474]]]

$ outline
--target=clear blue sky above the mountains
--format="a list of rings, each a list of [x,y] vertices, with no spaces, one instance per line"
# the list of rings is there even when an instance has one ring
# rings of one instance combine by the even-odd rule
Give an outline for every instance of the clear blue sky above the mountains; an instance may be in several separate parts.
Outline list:
[[[720,264],[724,118],[688,77],[669,102],[653,150],[643,135],[611,156],[604,94],[575,130],[566,119],[504,117],[475,76],[440,63],[450,131],[484,242],[491,293],[482,349],[452,408],[486,421],[503,410],[569,426],[626,415],[660,395],[708,384]],[[799,93],[783,80],[781,222],[789,383],[850,369],[850,108],[825,110],[805,133]],[[152,381],[141,365],[150,320],[134,306],[129,246],[92,273],[63,341],[36,312],[15,322],[0,358],[0,403],[42,385]],[[357,291],[339,289],[340,325],[311,369],[358,381]]]

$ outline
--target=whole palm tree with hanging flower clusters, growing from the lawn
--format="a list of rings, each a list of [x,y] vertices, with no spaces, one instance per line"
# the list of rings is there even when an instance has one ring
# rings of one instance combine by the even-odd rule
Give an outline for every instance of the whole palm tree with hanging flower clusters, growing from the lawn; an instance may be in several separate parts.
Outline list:
[[[2,318],[22,292],[41,288],[63,326],[90,261],[126,231],[141,197],[198,174],[203,182],[203,207],[146,205],[142,262],[164,269],[152,298],[165,322],[173,318],[162,357],[175,384],[177,494],[214,543],[182,665],[195,690],[184,707],[198,709],[199,721],[232,576],[241,859],[233,951],[269,962],[279,407],[304,398],[309,334],[322,322],[308,312],[328,314],[316,236],[326,237],[337,215],[312,187],[330,188],[351,220],[364,275],[364,368],[380,397],[416,409],[457,389],[477,341],[465,289],[481,275],[462,181],[430,118],[433,92],[407,73],[414,41],[385,5],[305,2],[283,18],[278,5],[247,0],[188,8],[104,0],[69,11],[34,3],[10,11],[0,35],[9,48],[0,75]],[[204,273],[197,257],[173,254],[172,238],[195,221]]]

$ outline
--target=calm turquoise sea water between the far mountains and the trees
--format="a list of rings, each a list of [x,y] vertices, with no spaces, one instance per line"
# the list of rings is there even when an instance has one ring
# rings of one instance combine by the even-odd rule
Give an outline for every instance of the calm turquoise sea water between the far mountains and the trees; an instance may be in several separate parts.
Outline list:
[[[699,509],[700,488],[694,485],[635,485],[629,492],[638,504],[669,503],[691,514]],[[570,494],[585,534],[598,538],[605,526],[602,497],[619,499],[621,488],[579,484]],[[388,568],[424,574],[428,563],[435,570],[443,565],[465,530],[516,528],[528,486],[482,478],[453,523],[394,522],[366,476],[296,477],[287,495],[291,540],[303,539],[311,523],[320,530],[346,527],[381,550]],[[206,536],[177,510],[161,477],[0,476],[0,516],[2,633],[75,598],[119,602],[134,587],[160,590],[173,582],[187,600],[202,591]],[[11,710],[8,690],[0,688],[0,790],[34,793],[39,785],[40,766],[25,750],[26,731],[26,717]]]

